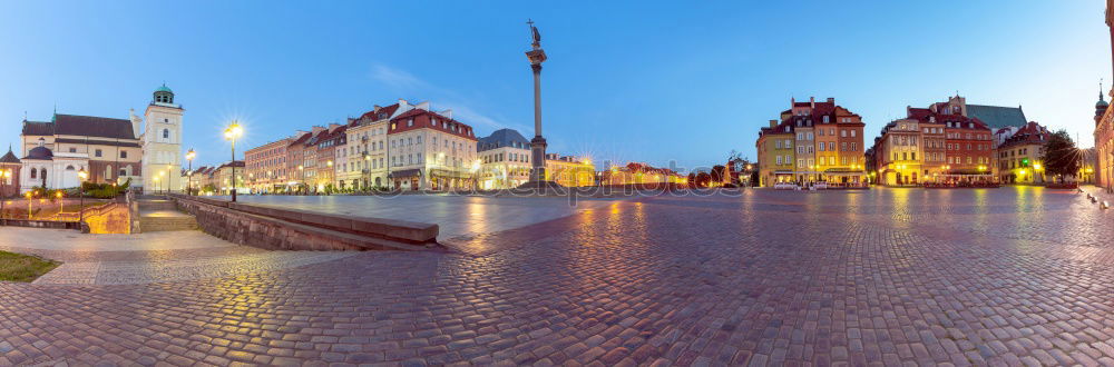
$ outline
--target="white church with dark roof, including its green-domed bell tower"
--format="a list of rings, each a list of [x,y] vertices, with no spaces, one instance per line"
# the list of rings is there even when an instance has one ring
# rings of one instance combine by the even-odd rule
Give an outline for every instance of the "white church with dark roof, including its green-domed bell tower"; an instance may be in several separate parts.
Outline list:
[[[11,180],[16,187],[3,194],[77,187],[81,171],[90,182],[130,180],[131,187],[153,189],[158,171],[180,169],[182,111],[174,103],[174,92],[163,86],[155,91],[144,118],[133,111],[128,119],[57,112],[50,121],[23,119],[18,152],[4,162],[20,167]],[[163,185],[179,179],[178,175],[164,175]]]

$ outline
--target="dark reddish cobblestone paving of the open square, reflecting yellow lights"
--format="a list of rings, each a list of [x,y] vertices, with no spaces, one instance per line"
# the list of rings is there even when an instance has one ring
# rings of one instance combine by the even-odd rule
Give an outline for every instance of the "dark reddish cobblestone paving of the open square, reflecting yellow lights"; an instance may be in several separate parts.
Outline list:
[[[1112,224],[1038,188],[619,201],[455,254],[0,284],[0,365],[1114,365]]]

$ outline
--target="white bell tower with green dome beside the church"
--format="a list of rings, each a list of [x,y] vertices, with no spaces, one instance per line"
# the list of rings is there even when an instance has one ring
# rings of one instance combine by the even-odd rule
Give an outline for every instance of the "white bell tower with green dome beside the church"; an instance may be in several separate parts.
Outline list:
[[[164,83],[144,112],[143,188],[144,192],[182,190],[182,105],[174,102],[174,91]]]

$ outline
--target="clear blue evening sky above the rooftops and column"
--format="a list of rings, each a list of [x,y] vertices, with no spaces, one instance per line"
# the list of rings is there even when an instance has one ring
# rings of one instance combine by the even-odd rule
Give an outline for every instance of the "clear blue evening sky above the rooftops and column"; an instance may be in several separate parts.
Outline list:
[[[156,6],[158,4],[158,6]],[[226,160],[233,118],[256,146],[399,98],[452,108],[479,135],[532,135],[522,54],[549,54],[549,150],[687,168],[732,149],[791,97],[834,97],[868,141],[947,96],[1023,106],[1093,146],[1111,80],[1104,2],[1086,1],[6,1],[0,143],[60,113],[141,113],[162,82],[197,163]],[[869,142],[868,142],[869,143]]]

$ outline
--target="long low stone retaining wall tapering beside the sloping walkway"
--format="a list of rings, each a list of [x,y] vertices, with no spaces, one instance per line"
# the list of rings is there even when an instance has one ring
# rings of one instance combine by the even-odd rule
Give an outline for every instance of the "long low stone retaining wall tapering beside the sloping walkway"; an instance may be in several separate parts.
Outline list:
[[[418,250],[437,246],[438,226],[291,210],[170,195],[206,234],[274,250]]]

